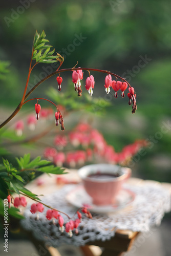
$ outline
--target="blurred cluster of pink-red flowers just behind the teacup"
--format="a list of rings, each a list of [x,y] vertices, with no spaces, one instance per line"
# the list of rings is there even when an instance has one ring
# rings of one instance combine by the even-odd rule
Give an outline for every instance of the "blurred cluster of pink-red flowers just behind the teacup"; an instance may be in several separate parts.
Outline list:
[[[87,123],[79,123],[68,136],[57,135],[54,138],[55,147],[47,147],[44,157],[53,161],[56,165],[83,165],[85,162],[102,160],[111,164],[126,164],[131,158],[145,146],[144,140],[137,140],[133,144],[123,147],[121,152],[116,152],[114,147],[106,143],[103,135]],[[67,146],[69,145],[70,151]],[[79,150],[72,150],[79,147]],[[82,147],[82,149],[80,149]],[[66,153],[65,153],[66,150]]]

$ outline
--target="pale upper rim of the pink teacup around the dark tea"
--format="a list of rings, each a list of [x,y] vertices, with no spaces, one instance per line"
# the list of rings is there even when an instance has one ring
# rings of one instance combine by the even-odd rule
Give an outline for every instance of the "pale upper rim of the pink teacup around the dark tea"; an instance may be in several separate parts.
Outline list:
[[[93,174],[93,170],[97,172],[97,169],[99,170],[104,170],[106,169],[106,172],[102,173],[112,173],[112,170],[115,169],[115,172],[118,172],[118,170],[122,172],[122,174],[119,177],[110,177],[110,178],[105,178],[105,179],[96,179],[96,178],[91,178],[88,177],[87,174]],[[128,174],[131,172],[131,169],[128,167],[122,167],[119,165],[115,164],[108,164],[108,163],[101,163],[101,164],[89,164],[85,165],[81,168],[78,169],[78,175],[83,181],[91,181],[91,182],[116,182],[116,181],[121,181],[127,178]],[[87,173],[87,174],[86,174]]]

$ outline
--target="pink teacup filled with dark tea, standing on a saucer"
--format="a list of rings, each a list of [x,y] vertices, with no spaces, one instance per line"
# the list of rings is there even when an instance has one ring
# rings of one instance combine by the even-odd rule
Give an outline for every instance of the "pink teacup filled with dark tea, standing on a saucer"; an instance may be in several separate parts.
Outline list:
[[[90,164],[78,170],[84,188],[96,205],[115,203],[122,184],[131,176],[131,169],[113,164]]]

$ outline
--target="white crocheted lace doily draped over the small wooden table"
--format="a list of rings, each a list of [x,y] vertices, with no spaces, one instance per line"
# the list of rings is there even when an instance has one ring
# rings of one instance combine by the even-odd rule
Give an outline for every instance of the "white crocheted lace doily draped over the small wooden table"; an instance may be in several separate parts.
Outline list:
[[[54,208],[66,212],[69,216],[75,214],[76,208],[68,203],[66,195],[75,185],[66,185],[55,193],[48,195],[42,201]],[[152,225],[159,225],[165,212],[170,211],[170,193],[162,186],[144,184],[132,186],[124,184],[136,194],[135,200],[124,209],[109,214],[94,214],[93,219],[82,216],[78,227],[78,234],[73,233],[70,238],[67,232],[61,233],[59,228],[46,219],[46,207],[40,213],[39,220],[30,212],[30,205],[25,210],[25,219],[21,221],[24,229],[32,230],[36,239],[44,241],[47,245],[57,247],[62,244],[75,246],[84,245],[94,240],[109,240],[115,235],[116,229],[129,229],[132,231],[148,231]],[[65,222],[68,218],[62,215]]]

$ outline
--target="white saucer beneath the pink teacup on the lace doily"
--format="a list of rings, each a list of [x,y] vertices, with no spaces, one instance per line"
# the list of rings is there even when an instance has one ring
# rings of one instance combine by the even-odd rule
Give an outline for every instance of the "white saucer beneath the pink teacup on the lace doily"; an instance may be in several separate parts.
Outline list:
[[[92,212],[105,213],[124,208],[134,201],[135,196],[133,191],[122,188],[114,204],[99,206],[93,204],[92,198],[86,193],[83,185],[78,185],[67,194],[66,199],[77,208],[86,206]]]

